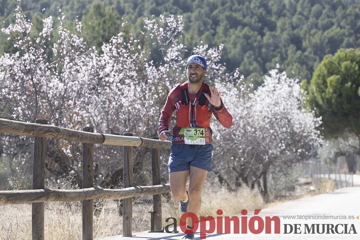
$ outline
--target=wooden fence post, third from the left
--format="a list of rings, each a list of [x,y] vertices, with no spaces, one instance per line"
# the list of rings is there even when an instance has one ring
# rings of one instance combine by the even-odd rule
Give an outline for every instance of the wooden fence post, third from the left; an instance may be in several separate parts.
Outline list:
[[[124,136],[132,136],[132,132],[125,132]],[[124,167],[123,167],[123,188],[132,187],[132,146],[123,146]],[[125,198],[122,206],[122,236],[132,236],[132,198]]]

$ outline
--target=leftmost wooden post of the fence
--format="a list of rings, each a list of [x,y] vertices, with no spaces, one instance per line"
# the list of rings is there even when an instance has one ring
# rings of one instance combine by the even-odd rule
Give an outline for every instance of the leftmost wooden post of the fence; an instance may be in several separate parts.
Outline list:
[[[48,124],[47,119],[36,119],[35,123]],[[46,137],[35,137],[32,165],[32,189],[45,188]],[[32,204],[32,239],[44,240],[44,203]]]

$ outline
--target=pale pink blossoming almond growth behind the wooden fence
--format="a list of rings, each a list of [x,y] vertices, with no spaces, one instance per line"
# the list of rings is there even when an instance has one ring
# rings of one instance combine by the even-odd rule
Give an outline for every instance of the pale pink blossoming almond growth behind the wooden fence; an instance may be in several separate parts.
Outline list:
[[[1,94],[8,109],[6,118],[29,122],[35,118],[47,118],[51,124],[78,130],[92,125],[98,132],[131,131],[138,136],[156,135],[159,112],[168,91],[184,81],[185,46],[178,44],[183,32],[181,16],[144,19],[147,33],[143,33],[143,38],[153,38],[155,41],[149,40],[150,44],[161,47],[164,54],[161,63],[150,61],[150,53],[145,50],[143,42],[123,32],[104,43],[102,54],[98,54],[94,47],[86,49],[80,37],[81,23],[77,21],[76,34],[70,33],[63,27],[63,13],[59,18],[59,39],[52,47],[53,56],[47,56],[44,48],[53,31],[52,17],[44,19],[44,30],[35,40],[29,37],[32,25],[20,8],[15,10],[15,17],[17,24],[3,29],[3,32],[18,40],[19,51],[13,55],[5,54],[0,61],[4,86]],[[200,50],[207,48],[199,47]],[[219,60],[221,48],[208,49],[209,63]],[[211,67],[213,72],[225,69],[221,64],[211,64]],[[18,84],[13,85],[14,81]],[[21,94],[23,92],[26,94]],[[23,140],[29,141],[27,145],[31,144],[31,138],[24,137]],[[14,144],[10,144],[11,141],[15,141]],[[6,138],[4,155],[12,156],[18,152],[16,141],[18,138],[13,136]],[[51,154],[46,163],[50,173],[56,176],[75,172],[79,176],[79,144],[49,140],[48,146]],[[135,153],[142,161],[146,151],[135,150]],[[31,159],[30,149],[24,150],[24,154]],[[112,147],[98,148],[101,166],[95,169],[102,172],[98,173],[99,178],[108,176],[114,184],[114,179],[121,177],[112,176],[120,171],[111,170],[114,164],[118,165],[119,154],[121,151],[116,153]],[[19,160],[25,155],[16,156]],[[21,172],[21,168],[17,170]]]

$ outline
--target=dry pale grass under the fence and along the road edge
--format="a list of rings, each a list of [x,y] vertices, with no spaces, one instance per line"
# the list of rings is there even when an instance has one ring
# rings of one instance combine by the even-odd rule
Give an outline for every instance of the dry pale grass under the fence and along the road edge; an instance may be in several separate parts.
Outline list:
[[[222,209],[224,216],[233,216],[242,209],[252,210],[264,205],[261,195],[246,187],[231,193],[220,187],[214,189],[213,186],[204,186],[202,200],[200,216],[217,216],[217,209]],[[94,238],[122,234],[122,217],[118,214],[117,202],[96,201],[99,201],[97,208],[102,211],[97,217],[94,214]],[[163,226],[166,226],[171,223],[166,223],[166,218],[177,218],[178,202],[166,203],[165,197],[162,202]],[[133,205],[133,232],[149,230],[148,212],[152,211],[152,196],[136,198]],[[0,206],[1,240],[30,240],[31,236],[31,204]],[[45,203],[45,239],[82,239],[81,202]]]

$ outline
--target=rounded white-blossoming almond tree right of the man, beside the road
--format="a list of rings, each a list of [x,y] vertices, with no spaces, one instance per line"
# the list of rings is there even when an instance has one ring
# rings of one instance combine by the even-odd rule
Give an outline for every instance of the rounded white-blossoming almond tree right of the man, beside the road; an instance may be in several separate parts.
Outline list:
[[[321,118],[301,108],[298,80],[278,69],[271,70],[263,85],[246,97],[231,86],[221,91],[235,121],[232,130],[218,135],[222,150],[214,155],[216,172],[228,185],[235,179],[235,186],[257,186],[267,198],[270,167],[281,172],[309,159],[323,141],[317,130]],[[214,129],[220,128],[216,123]]]

